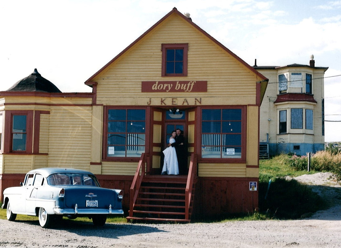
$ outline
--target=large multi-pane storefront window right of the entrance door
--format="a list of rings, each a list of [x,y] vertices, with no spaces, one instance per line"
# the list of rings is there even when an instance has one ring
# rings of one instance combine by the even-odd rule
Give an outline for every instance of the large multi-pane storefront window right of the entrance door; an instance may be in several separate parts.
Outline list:
[[[202,158],[242,158],[242,109],[202,110]]]

